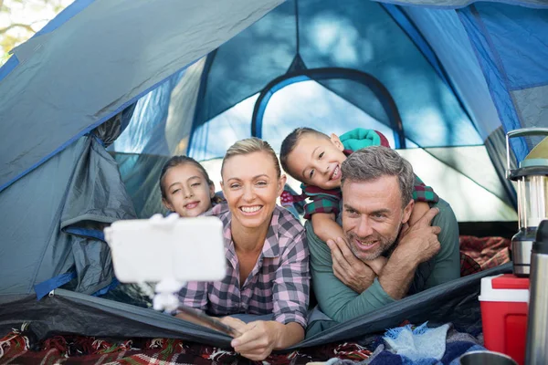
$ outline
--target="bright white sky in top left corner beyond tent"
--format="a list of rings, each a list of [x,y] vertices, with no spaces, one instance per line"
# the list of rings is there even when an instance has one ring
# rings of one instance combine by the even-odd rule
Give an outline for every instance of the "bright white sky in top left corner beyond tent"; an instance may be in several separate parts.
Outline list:
[[[31,26],[34,31],[46,26],[59,11],[67,7],[73,0],[4,0],[5,9],[0,12],[0,29],[12,24],[24,24]],[[4,35],[0,35],[0,57],[3,57],[9,49],[1,46],[5,36],[16,36],[25,41],[33,33],[23,27],[14,27]]]

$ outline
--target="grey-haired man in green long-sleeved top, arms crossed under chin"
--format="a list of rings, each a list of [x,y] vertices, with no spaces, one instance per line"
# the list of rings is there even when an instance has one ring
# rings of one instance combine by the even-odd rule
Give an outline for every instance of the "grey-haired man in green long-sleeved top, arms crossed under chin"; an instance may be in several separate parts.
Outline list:
[[[407,225],[415,181],[409,162],[376,146],[353,152],[341,168],[345,237],[326,245],[306,224],[323,313],[347,321],[459,277],[458,224],[448,203],[440,199]],[[364,263],[379,259],[380,267]]]

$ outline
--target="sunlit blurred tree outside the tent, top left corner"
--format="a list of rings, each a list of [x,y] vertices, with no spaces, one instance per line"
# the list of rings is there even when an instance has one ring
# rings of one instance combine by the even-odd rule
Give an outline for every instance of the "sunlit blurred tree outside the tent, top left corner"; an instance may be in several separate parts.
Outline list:
[[[72,0],[0,0],[0,65]]]

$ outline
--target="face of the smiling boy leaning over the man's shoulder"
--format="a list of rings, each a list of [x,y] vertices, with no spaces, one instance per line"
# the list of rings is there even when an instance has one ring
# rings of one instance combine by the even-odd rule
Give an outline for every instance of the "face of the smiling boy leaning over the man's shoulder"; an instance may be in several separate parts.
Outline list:
[[[341,164],[346,160],[339,137],[324,138],[307,133],[288,155],[291,174],[301,183],[321,189],[341,187]]]

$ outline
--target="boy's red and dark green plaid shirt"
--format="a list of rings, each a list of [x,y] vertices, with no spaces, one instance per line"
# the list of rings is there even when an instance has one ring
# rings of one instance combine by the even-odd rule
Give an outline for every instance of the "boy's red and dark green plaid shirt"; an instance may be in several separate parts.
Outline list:
[[[349,156],[353,151],[344,150],[346,156]],[[311,219],[312,214],[316,213],[334,213],[335,215],[341,212],[342,192],[340,188],[324,190],[317,186],[301,184],[300,188],[307,198],[311,199],[311,203],[304,205],[304,218]],[[439,197],[434,190],[425,185],[415,175],[415,187],[413,190],[413,199],[416,202],[437,203]]]

